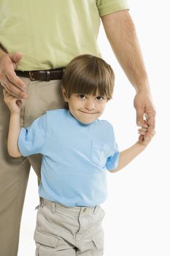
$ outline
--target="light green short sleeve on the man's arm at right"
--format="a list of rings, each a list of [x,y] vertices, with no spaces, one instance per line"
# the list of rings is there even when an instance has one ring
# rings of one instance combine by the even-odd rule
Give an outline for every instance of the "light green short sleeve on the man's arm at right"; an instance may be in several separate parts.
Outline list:
[[[98,0],[96,2],[100,17],[120,10],[128,10],[126,0]]]

